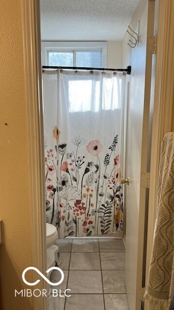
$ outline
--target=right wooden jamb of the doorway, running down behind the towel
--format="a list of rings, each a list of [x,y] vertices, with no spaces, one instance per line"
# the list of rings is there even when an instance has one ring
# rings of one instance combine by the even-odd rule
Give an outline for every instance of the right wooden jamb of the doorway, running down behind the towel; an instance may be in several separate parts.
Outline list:
[[[174,1],[160,0],[157,36],[157,68],[155,79],[154,116],[152,127],[151,168],[146,252],[146,284],[151,260],[156,220],[160,147],[164,135],[174,130]],[[145,310],[160,310],[145,301]]]

